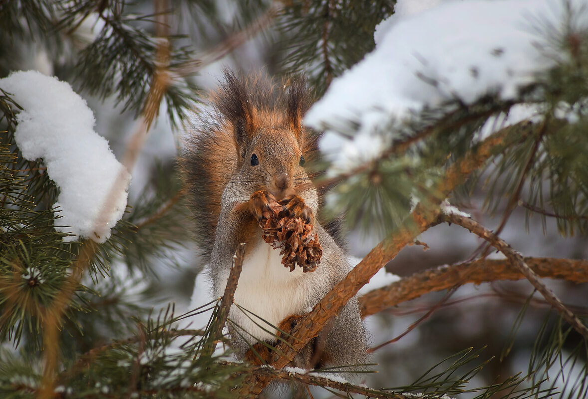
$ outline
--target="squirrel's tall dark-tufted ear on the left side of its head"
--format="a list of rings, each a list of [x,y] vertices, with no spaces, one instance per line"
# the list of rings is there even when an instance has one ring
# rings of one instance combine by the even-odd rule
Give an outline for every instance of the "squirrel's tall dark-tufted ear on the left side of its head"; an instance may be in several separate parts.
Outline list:
[[[219,87],[216,106],[220,113],[233,124],[233,134],[239,154],[245,156],[247,144],[255,131],[256,112],[249,101],[249,89],[243,77],[235,75],[229,69],[225,73],[225,82]]]

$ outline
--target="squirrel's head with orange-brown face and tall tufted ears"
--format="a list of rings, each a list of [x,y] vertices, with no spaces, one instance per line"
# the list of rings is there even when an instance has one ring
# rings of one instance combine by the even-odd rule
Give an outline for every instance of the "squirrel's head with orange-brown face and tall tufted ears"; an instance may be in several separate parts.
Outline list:
[[[309,106],[305,80],[296,77],[280,89],[225,71],[216,98],[233,131],[240,175],[278,200],[311,184],[304,165],[316,150],[316,140],[302,126]]]

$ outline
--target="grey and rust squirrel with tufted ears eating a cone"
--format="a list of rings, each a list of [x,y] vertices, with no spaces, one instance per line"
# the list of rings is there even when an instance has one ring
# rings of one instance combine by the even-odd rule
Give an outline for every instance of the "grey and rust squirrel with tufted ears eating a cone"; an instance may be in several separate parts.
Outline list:
[[[224,74],[211,94],[212,111],[200,117],[187,140],[181,170],[215,297],[222,296],[237,246],[246,243],[228,329],[236,357],[260,365],[268,363],[278,337],[286,339],[351,265],[319,222],[319,192],[304,168],[318,155],[318,134],[302,125],[310,105],[305,80],[276,87],[265,77],[227,69]],[[315,271],[290,272],[279,251],[263,241],[258,222],[272,201],[312,225],[323,248]],[[292,366],[357,369],[369,361],[367,342],[353,297]]]

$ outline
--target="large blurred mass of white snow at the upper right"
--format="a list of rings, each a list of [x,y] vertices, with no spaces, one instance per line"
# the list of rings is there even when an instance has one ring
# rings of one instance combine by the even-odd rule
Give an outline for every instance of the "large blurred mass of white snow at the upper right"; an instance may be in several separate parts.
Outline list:
[[[570,4],[582,29],[588,12],[577,12],[582,0]],[[537,73],[565,59],[549,33],[538,33],[542,26],[564,31],[564,1],[399,0],[396,10],[377,27],[376,49],[333,80],[306,114],[308,126],[326,130],[320,149],[334,164],[330,175],[377,158],[395,138],[390,132],[427,107],[470,104],[489,93],[515,99]]]

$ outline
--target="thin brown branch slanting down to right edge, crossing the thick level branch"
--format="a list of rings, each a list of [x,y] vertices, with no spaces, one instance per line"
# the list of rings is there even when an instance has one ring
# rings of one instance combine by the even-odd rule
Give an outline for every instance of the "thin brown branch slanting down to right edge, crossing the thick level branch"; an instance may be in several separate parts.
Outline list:
[[[547,300],[547,302],[549,302],[557,310],[557,312],[562,315],[566,322],[570,323],[572,327],[574,327],[577,332],[582,334],[585,339],[588,339],[588,328],[584,326],[580,319],[578,319],[578,317],[574,315],[571,310],[567,309],[567,307],[563,305],[562,301],[560,301],[559,298],[539,280],[540,278],[537,273],[533,272],[533,270],[529,268],[520,253],[512,249],[510,245],[503,241],[503,239],[473,219],[465,218],[456,214],[443,214],[440,218],[445,222],[455,223],[456,225],[468,229],[470,232],[476,234],[480,238],[485,239],[493,247],[502,252],[510,260],[510,262],[512,262],[512,264],[515,265],[517,269],[519,269],[519,271],[527,278],[527,280],[529,280],[533,287],[536,288],[541,295],[543,295],[545,300]]]

